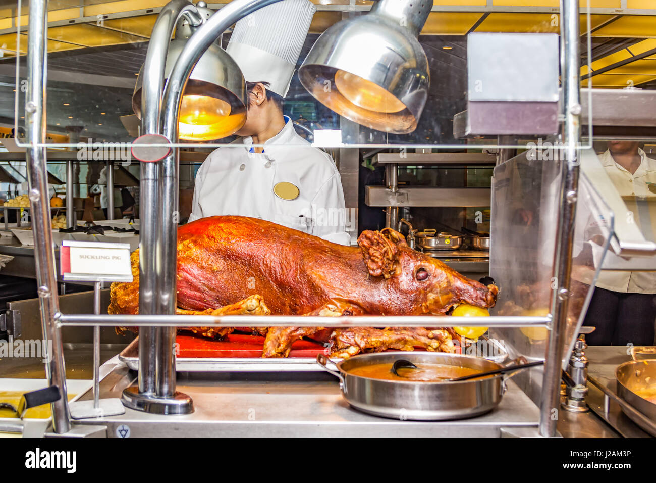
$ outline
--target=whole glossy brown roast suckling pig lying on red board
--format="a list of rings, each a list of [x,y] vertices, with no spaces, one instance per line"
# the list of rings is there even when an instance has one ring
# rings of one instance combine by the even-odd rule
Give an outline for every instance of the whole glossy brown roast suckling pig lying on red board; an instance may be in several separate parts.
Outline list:
[[[241,216],[182,225],[178,313],[443,315],[458,304],[495,304],[495,285],[485,287],[412,250],[397,231],[363,231],[358,244],[342,246]],[[132,263],[134,281],[112,284],[110,313],[138,313],[138,250]],[[213,327],[196,331],[205,336],[228,333]],[[342,356],[413,346],[453,352],[451,336],[445,329],[271,327],[263,356],[287,356],[301,337],[329,341],[331,352]]]

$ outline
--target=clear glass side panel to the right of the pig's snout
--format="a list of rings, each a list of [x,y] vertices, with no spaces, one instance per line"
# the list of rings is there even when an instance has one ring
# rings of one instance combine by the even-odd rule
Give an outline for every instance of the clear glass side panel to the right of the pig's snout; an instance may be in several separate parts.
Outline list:
[[[552,279],[559,192],[560,161],[544,162],[525,152],[495,168],[490,275],[501,290],[497,306],[491,310],[493,315],[550,313],[552,294],[560,287]],[[613,231],[613,214],[584,173],[577,199],[564,365],[583,322],[592,296],[590,288],[594,287]],[[490,334],[507,346],[511,357],[544,357],[547,329],[490,329]],[[541,369],[521,375],[516,382],[534,401],[539,399]]]

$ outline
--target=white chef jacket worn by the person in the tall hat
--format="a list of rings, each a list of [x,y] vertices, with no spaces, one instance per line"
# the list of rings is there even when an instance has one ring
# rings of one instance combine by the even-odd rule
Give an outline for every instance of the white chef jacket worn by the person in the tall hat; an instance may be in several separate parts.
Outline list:
[[[350,244],[346,232],[344,191],[331,156],[297,135],[285,116],[285,127],[253,149],[253,139],[215,149],[196,173],[189,221],[213,215],[266,219],[325,240]],[[298,188],[293,200],[274,194],[286,181]]]

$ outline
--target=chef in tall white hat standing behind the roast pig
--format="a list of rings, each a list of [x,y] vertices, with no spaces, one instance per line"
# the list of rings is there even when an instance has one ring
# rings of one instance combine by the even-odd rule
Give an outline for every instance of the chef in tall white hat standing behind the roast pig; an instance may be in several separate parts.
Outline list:
[[[237,131],[242,138],[213,151],[199,168],[189,221],[251,216],[350,244],[335,162],[283,116],[315,9],[308,0],[283,0],[237,22],[226,50],[247,81],[248,117]]]

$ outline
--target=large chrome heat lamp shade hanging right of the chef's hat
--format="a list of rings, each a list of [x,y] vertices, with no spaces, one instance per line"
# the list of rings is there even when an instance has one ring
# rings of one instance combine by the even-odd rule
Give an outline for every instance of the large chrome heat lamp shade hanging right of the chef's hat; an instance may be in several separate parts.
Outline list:
[[[379,0],[331,26],[298,71],[313,97],[363,126],[388,133],[417,127],[430,85],[419,44],[432,1]]]

